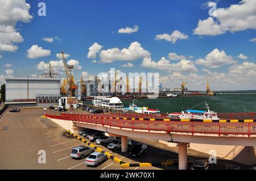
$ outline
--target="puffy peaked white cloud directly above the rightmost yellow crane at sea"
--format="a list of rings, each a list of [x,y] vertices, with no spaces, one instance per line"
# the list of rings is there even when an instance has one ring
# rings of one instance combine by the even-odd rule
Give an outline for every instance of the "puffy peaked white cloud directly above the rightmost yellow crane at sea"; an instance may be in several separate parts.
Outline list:
[[[199,58],[196,60],[196,65],[204,65],[208,68],[220,68],[224,64],[232,64],[233,58],[228,56],[224,50],[218,50],[217,48],[212,50],[205,58]]]

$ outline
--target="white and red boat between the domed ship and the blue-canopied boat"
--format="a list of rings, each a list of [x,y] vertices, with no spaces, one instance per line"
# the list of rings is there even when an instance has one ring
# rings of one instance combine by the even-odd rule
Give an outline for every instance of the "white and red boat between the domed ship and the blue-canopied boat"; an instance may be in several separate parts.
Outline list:
[[[133,100],[133,103],[129,105],[129,107],[123,108],[124,112],[134,112],[134,113],[146,113],[146,114],[158,114],[160,111],[148,109],[148,107],[145,106],[137,106],[134,104],[135,99]]]

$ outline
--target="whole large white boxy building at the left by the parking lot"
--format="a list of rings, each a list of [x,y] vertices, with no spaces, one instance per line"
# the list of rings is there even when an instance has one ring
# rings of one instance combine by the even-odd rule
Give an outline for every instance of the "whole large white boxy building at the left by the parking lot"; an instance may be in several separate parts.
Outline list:
[[[5,78],[6,104],[57,103],[59,78]]]

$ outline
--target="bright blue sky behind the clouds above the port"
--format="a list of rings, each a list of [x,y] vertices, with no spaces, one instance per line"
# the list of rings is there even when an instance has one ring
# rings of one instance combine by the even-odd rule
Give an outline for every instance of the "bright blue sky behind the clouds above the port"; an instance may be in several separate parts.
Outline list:
[[[244,1],[243,3],[250,3],[250,0]],[[46,3],[46,16],[38,15],[39,2]],[[226,12],[232,14],[230,6],[238,5],[239,2],[218,1],[217,9],[226,9]],[[199,20],[209,18],[208,11],[210,7],[208,6],[208,1],[63,0],[60,2],[44,0],[26,1],[26,3],[30,4],[28,12],[32,16],[32,19],[30,19],[30,22],[16,20],[11,25],[15,27],[16,32],[19,32],[24,40],[22,43],[15,43],[18,46],[15,52],[1,51],[0,49],[2,56],[0,59],[0,75],[5,75],[7,69],[13,70],[11,76],[15,76],[15,72],[18,76],[42,74],[44,70],[37,69],[39,62],[44,61],[47,63],[48,61],[56,61],[56,53],[60,53],[63,50],[65,53],[70,54],[67,61],[70,59],[79,61],[81,69],[74,71],[77,79],[80,79],[83,71],[88,73],[88,75],[94,75],[109,71],[110,68],[115,68],[125,73],[159,72],[160,82],[166,87],[174,87],[180,85],[181,81],[189,82],[193,79],[193,81],[190,81],[191,84],[188,87],[192,90],[204,90],[205,81],[202,79],[206,79],[209,76],[214,90],[255,89],[256,83],[255,79],[253,79],[253,76],[256,75],[254,74],[255,70],[248,70],[248,67],[254,68],[256,64],[256,42],[250,41],[250,39],[256,38],[256,28],[250,26],[251,22],[246,22],[249,24],[248,27],[237,25],[236,22],[239,22],[239,19],[233,21],[234,26],[230,26],[230,22],[228,22],[229,26],[225,27],[227,22],[224,22],[225,17],[220,11],[220,18],[218,18],[217,14],[217,18],[215,17],[214,21],[218,22],[218,25],[222,28],[222,33],[217,33],[217,35],[215,35],[216,33],[212,33],[211,35],[208,33],[208,35],[205,35],[205,32],[201,31],[205,27],[199,27],[198,23]],[[240,7],[236,8],[239,9]],[[256,15],[256,12],[251,10],[247,16],[251,15]],[[256,24],[256,22],[254,23]],[[3,23],[3,25],[5,24]],[[135,25],[139,27],[137,32],[118,33],[120,28],[134,28]],[[201,28],[200,33],[195,33],[194,30],[197,27]],[[177,39],[175,43],[164,39],[156,39],[156,35],[163,35],[164,33],[170,35],[175,30],[183,33],[183,35],[187,36],[187,39]],[[52,43],[42,40],[44,37],[53,38],[56,36],[60,40],[54,39]],[[179,65],[170,65],[178,64],[181,60],[168,60],[170,61],[169,63],[167,62],[167,66],[170,66],[168,70],[158,68],[158,65],[150,68],[154,64],[146,65],[143,56],[135,58],[135,60],[115,60],[112,63],[100,61],[100,52],[98,52],[96,58],[87,57],[88,49],[94,43],[102,45],[101,50],[110,48],[119,48],[121,50],[128,48],[135,41],[150,53],[151,63],[152,61],[158,62],[162,57],[166,57],[168,60],[169,53],[176,53],[177,55],[185,56],[184,59],[189,61],[189,65],[195,65],[197,70],[183,70],[183,68],[178,68]],[[51,50],[51,55],[28,58],[27,50],[32,45],[38,45],[38,47],[42,47],[43,49]],[[220,52],[223,50],[225,53],[222,54],[226,56],[222,56],[224,60],[217,65],[217,68],[210,67],[212,64],[208,64],[207,66],[205,62],[204,64],[198,63],[198,59],[207,59],[205,56],[210,54],[214,49]],[[238,58],[237,56],[240,53],[247,58]],[[229,60],[227,56],[232,57],[232,59]],[[92,63],[92,60],[97,60],[97,63]],[[229,61],[229,63],[225,63],[225,61]],[[128,62],[134,66],[132,68],[121,67],[121,65],[127,64]],[[243,65],[244,62],[248,64]],[[11,66],[7,68],[5,66],[6,64],[11,64]],[[239,70],[240,74],[230,74],[230,69]],[[239,79],[238,81],[240,82],[234,81],[236,76],[241,77],[244,75],[243,71],[250,71],[250,75],[246,75],[245,79]],[[224,80],[224,77],[228,78]],[[220,85],[220,81],[223,81],[222,85]],[[245,81],[248,82],[245,83]],[[244,83],[244,85],[238,86],[241,83]]]

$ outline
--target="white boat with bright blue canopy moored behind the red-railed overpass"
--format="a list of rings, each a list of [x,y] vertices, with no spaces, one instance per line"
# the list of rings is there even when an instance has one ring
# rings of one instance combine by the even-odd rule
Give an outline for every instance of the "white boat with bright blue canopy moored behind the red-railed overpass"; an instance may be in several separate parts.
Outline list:
[[[203,103],[205,103],[207,111],[186,110],[185,112],[172,112],[168,114],[168,116],[170,117],[170,119],[220,120],[220,118],[218,118],[217,112],[210,111],[207,102]],[[196,106],[198,105],[199,104],[197,104]]]

